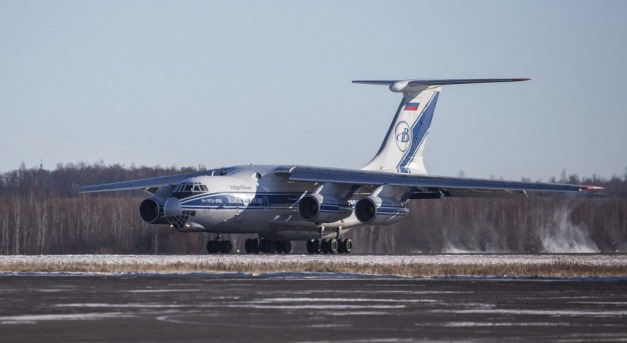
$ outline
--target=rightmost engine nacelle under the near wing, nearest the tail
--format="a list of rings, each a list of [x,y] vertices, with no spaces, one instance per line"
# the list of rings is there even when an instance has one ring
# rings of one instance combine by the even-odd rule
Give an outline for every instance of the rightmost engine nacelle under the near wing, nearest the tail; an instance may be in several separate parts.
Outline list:
[[[405,218],[409,209],[390,198],[369,196],[355,204],[355,217],[363,224],[392,224]]]

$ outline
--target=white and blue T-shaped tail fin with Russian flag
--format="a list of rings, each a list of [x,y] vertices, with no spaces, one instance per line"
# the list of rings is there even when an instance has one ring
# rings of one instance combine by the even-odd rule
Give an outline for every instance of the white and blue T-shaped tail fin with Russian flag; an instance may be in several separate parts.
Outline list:
[[[362,169],[406,174],[427,174],[423,151],[438,96],[444,85],[516,82],[514,79],[357,80],[353,83],[385,85],[403,93],[396,115],[375,157]]]

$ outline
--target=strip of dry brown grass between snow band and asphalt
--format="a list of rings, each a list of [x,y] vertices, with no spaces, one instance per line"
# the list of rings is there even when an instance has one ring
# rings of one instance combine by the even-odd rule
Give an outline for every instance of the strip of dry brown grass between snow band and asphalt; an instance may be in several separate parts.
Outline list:
[[[62,260],[62,259],[61,259]],[[6,261],[0,259],[2,272],[68,272],[68,273],[245,273],[268,274],[280,272],[296,273],[354,273],[371,275],[399,275],[409,277],[446,276],[508,276],[508,277],[619,277],[627,276],[627,262],[594,264],[585,261],[556,259],[531,263],[420,263],[400,264],[360,263],[337,259],[312,259],[291,262],[268,258],[265,260],[199,259],[197,261],[138,261],[137,263],[110,263],[106,259],[98,262],[61,261],[47,263],[45,260]]]

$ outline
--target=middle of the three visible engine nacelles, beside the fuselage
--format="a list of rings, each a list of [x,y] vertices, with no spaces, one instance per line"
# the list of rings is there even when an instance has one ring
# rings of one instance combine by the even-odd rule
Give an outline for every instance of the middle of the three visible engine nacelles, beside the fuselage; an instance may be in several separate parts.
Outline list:
[[[333,223],[348,218],[353,208],[348,201],[338,197],[307,194],[298,202],[298,213],[310,222]]]

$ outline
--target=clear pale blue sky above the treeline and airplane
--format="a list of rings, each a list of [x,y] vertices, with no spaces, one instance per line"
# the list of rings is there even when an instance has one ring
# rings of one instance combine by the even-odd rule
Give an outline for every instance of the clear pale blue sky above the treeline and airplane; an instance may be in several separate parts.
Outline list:
[[[58,163],[360,168],[443,89],[430,174],[627,172],[627,1],[0,0],[0,172]]]

